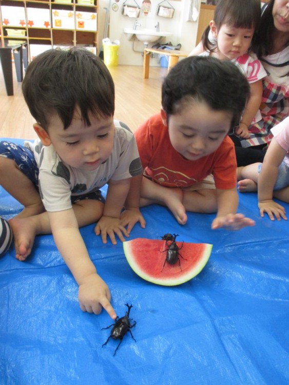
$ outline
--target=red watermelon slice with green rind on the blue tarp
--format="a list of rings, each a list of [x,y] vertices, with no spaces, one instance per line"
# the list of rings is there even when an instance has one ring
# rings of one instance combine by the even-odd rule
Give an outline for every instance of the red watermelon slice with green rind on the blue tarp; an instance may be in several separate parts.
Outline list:
[[[132,268],[146,281],[164,286],[175,286],[199,274],[207,263],[213,245],[208,243],[176,242],[182,247],[179,251],[180,264],[165,263],[165,240],[136,238],[123,242],[124,254]],[[169,244],[169,243],[168,243]],[[163,253],[162,253],[163,252]]]

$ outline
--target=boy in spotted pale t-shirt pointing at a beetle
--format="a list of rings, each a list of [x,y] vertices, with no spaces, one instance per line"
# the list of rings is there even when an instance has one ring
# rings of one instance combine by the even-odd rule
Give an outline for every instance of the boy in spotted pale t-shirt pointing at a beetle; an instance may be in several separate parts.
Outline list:
[[[132,133],[113,120],[111,75],[85,49],[49,50],[28,66],[23,93],[39,139],[25,146],[0,142],[0,184],[24,205],[10,220],[16,258],[27,258],[36,235],[52,233],[79,284],[81,309],[99,314],[103,306],[115,318],[79,232],[98,221],[95,233],[104,243],[108,235],[115,244],[115,234],[124,241],[121,210],[131,177],[142,174]]]

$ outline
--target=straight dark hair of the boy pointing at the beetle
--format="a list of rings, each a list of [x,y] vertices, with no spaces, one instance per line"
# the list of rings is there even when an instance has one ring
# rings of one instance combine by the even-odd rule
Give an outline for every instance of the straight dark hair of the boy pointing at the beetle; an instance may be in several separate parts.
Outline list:
[[[114,84],[105,64],[85,48],[51,49],[29,64],[22,85],[29,110],[45,130],[57,114],[66,129],[75,108],[86,125],[88,114],[113,116]]]

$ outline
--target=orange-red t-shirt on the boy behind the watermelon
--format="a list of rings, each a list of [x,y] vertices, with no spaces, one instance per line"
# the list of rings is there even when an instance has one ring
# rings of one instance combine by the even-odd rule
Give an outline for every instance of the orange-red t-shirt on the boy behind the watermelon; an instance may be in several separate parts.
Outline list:
[[[172,147],[168,129],[158,113],[134,133],[145,175],[167,187],[189,187],[213,174],[216,188],[236,187],[236,155],[232,140],[226,137],[208,156],[191,161]]]

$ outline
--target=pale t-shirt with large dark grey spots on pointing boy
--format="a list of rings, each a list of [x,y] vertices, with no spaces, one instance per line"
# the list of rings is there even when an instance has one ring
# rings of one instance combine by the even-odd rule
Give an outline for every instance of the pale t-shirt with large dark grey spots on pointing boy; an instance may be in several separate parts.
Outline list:
[[[136,140],[129,128],[114,120],[113,148],[107,161],[96,170],[81,170],[64,163],[53,145],[43,146],[37,139],[26,142],[39,166],[39,188],[47,211],[72,207],[71,195],[80,196],[99,190],[109,180],[119,181],[142,174]]]

